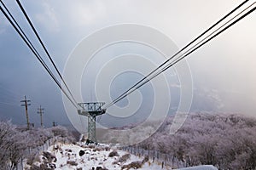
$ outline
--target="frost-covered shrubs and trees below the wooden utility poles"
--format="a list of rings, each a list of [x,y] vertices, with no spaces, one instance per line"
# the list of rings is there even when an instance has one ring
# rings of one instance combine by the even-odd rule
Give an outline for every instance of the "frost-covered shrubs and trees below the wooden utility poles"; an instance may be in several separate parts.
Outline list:
[[[66,140],[75,139],[66,127],[33,127],[26,129],[17,127],[11,122],[0,122],[0,167],[1,169],[17,169],[18,164],[26,159],[27,163],[33,161],[38,154],[39,146],[49,139]]]

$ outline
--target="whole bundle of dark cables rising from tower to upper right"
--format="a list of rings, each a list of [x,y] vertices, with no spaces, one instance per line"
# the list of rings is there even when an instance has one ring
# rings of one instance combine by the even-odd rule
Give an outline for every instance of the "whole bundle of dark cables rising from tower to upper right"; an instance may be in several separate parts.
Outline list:
[[[113,99],[113,101],[108,105],[106,105],[104,109],[108,109],[108,107],[116,104],[121,99],[124,99],[127,95],[137,90],[137,88],[141,88],[144,84],[152,80],[154,77],[159,76],[162,72],[166,71],[173,65],[176,65],[179,61],[188,57],[189,54],[194,53],[195,50],[201,48],[207,42],[212,41],[213,38],[218,37],[218,35],[220,35],[222,32],[228,30],[230,26],[234,26],[238,21],[245,18],[248,14],[253,13],[253,11],[256,9],[255,1],[247,5],[247,7],[241,9],[242,6],[244,6],[248,2],[249,0],[242,2],[236,8],[231,10],[230,13],[224,15],[222,19],[218,20],[215,24],[210,26],[206,31],[202,32],[201,35],[199,35],[194,40],[192,40],[187,45],[185,45],[182,49],[177,51],[176,54],[173,54],[171,57],[166,59],[166,61],[163,62],[161,65],[159,65],[156,69],[154,69],[154,71],[151,71],[150,73],[148,73],[147,76],[143,77],[140,81],[138,81],[136,84],[131,86],[131,88],[127,89],[123,94],[120,94],[119,97],[117,97],[116,99]],[[234,14],[238,9],[241,9],[240,12],[238,12],[237,14]],[[232,14],[233,16],[231,16]]]

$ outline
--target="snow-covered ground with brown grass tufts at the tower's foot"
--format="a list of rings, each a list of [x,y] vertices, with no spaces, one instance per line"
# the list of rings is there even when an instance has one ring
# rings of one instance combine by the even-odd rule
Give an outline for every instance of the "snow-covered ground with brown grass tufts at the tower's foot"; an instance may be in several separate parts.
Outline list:
[[[81,151],[83,150],[83,151]],[[118,155],[114,152],[116,151]],[[79,153],[83,153],[79,156]],[[110,156],[110,155],[113,156]],[[116,156],[115,156],[116,155]],[[126,155],[126,156],[125,156]],[[125,160],[125,157],[128,159]],[[146,161],[146,162],[143,162]],[[139,165],[142,164],[142,167]],[[40,154],[38,161],[33,163],[31,169],[49,168],[57,170],[91,170],[97,169],[161,169],[161,165],[145,160],[144,157],[134,156],[123,150],[117,150],[108,145],[85,145],[85,144],[55,144]],[[100,168],[101,167],[101,168]],[[26,168],[29,169],[29,168]],[[165,167],[165,169],[171,169]]]

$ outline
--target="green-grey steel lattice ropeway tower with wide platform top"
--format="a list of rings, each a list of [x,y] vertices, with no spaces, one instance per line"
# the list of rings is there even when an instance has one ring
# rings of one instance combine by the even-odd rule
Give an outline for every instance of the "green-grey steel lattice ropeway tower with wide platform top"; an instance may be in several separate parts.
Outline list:
[[[96,116],[103,115],[106,109],[102,109],[104,102],[79,103],[79,115],[88,118],[88,139],[96,143]]]

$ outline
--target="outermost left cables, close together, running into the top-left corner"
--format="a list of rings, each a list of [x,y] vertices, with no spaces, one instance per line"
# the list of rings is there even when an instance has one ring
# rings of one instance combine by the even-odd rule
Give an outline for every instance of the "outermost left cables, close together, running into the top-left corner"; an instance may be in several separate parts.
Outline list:
[[[1,0],[0,0],[1,1]],[[3,3],[1,1],[1,3]],[[55,81],[55,83],[58,85],[59,88],[61,88],[61,91],[63,92],[63,94],[65,94],[67,96],[67,99],[70,100],[70,102],[78,109],[78,106],[73,102],[73,100],[67,95],[66,91],[61,87],[61,83],[58,82],[58,80],[56,79],[56,77],[54,76],[54,74],[52,73],[52,71],[50,71],[48,65],[45,64],[44,59],[42,59],[42,57],[38,54],[37,50],[34,49],[32,47],[32,45],[30,44],[30,42],[28,42],[26,40],[26,37],[21,33],[21,31],[18,29],[17,26],[15,26],[15,23],[17,22],[13,22],[13,20],[11,20],[9,18],[9,15],[3,10],[3,8],[0,6],[0,10],[2,11],[2,13],[4,14],[4,16],[7,18],[7,20],[9,20],[9,23],[15,28],[15,31],[20,35],[21,39],[26,43],[27,47],[30,48],[30,50],[32,51],[32,53],[37,57],[37,59],[39,60],[39,62],[41,63],[41,65],[44,66],[44,69],[49,73],[49,76],[52,77],[52,79]],[[22,29],[21,29],[22,30]],[[24,31],[23,31],[24,32]]]

